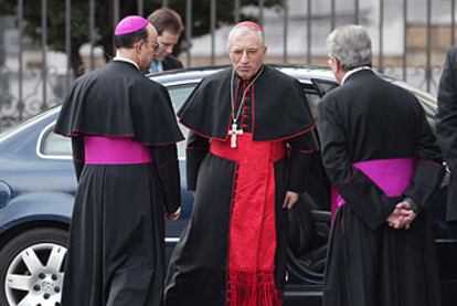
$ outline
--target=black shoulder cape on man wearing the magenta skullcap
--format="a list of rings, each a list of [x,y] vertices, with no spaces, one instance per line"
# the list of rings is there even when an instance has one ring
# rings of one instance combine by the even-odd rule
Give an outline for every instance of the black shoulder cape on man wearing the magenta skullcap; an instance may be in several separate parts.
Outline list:
[[[130,136],[156,146],[183,139],[167,88],[121,61],[85,74],[72,85],[55,133]]]

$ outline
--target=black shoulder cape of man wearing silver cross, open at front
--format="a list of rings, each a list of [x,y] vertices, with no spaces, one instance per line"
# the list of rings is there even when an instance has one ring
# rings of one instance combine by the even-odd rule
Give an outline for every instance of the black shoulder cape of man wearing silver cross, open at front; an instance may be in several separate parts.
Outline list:
[[[180,123],[206,138],[226,139],[231,124],[232,68],[205,77],[178,112]],[[254,140],[286,139],[315,123],[300,83],[265,66],[255,83]]]

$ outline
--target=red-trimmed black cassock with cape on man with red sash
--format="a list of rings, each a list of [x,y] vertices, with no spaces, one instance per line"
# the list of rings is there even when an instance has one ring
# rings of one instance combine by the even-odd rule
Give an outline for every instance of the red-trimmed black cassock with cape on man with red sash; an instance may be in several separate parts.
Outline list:
[[[222,306],[230,303],[228,245],[234,244],[230,244],[228,235],[231,218],[237,205],[234,193],[238,191],[234,186],[241,178],[235,175],[238,173],[238,163],[216,156],[211,147],[216,143],[228,155],[238,149],[227,145],[227,130],[232,124],[231,75],[232,68],[227,68],[205,77],[178,113],[180,122],[191,130],[187,148],[187,179],[188,189],[195,191],[195,200],[192,218],[171,257],[166,281],[167,306]],[[249,82],[235,77],[234,87],[238,89],[233,89],[237,107],[243,92],[240,88],[246,88]],[[318,149],[315,124],[299,82],[268,66],[248,89],[241,114],[238,126],[243,128],[243,136],[252,135],[252,144],[287,143],[289,146],[288,154],[273,163],[275,196],[272,207],[276,241],[272,243],[276,243],[276,251],[272,282],[280,295],[287,246],[287,210],[281,204],[287,190],[302,192],[307,186],[311,156]],[[247,152],[245,158],[255,157]],[[237,193],[236,199],[240,197]],[[263,207],[261,202],[257,202],[259,208]],[[255,247],[253,245],[254,242],[252,247]]]

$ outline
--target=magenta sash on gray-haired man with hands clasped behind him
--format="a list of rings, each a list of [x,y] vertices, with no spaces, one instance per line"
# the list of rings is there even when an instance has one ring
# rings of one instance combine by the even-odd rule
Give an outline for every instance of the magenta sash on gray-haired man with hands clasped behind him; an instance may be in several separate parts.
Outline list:
[[[354,168],[368,176],[389,198],[401,197],[414,175],[414,158],[373,159],[359,161]],[[331,188],[331,213],[346,203],[334,186]]]

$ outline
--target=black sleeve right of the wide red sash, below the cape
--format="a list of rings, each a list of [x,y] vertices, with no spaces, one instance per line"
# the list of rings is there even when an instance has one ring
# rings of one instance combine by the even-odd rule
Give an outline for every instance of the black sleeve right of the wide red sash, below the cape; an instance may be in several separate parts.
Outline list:
[[[319,151],[316,130],[289,139],[288,145],[289,183],[287,190],[301,193],[308,186],[312,157]]]

